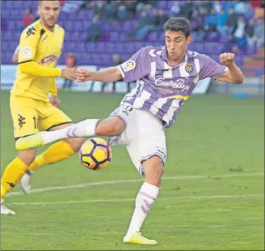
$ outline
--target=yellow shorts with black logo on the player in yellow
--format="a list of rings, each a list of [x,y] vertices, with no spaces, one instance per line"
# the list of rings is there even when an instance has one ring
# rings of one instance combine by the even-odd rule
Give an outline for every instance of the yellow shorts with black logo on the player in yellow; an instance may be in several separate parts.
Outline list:
[[[15,140],[42,130],[51,130],[56,125],[72,123],[63,111],[41,100],[11,94],[10,109]]]

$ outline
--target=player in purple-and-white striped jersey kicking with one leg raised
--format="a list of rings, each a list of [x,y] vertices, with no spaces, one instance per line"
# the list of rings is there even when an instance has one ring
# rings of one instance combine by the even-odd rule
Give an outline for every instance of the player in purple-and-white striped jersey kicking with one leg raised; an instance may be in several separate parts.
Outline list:
[[[110,143],[126,145],[136,169],[145,181],[136,196],[134,214],[124,243],[155,245],[141,235],[148,211],[160,191],[167,157],[164,129],[170,128],[199,80],[214,78],[232,84],[243,83],[243,73],[235,65],[235,55],[220,55],[220,63],[187,49],[190,23],[185,18],[170,18],[164,24],[165,47],[143,47],[131,59],[103,71],[78,70],[79,82],[94,80],[125,82],[137,80],[120,106],[108,118],[87,119],[70,128],[42,132],[20,138],[19,150],[46,145],[70,137],[109,136]]]

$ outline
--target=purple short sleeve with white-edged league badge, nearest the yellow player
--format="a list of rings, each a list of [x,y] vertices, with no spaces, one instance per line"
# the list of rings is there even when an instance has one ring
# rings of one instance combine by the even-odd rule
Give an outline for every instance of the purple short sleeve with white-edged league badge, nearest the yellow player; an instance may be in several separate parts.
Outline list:
[[[134,82],[150,73],[150,62],[148,62],[148,51],[140,49],[131,58],[117,66],[125,82]]]

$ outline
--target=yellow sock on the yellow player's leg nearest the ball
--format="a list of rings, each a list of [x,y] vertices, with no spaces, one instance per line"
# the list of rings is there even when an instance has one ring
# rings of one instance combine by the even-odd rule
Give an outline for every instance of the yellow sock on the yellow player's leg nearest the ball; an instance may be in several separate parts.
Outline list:
[[[30,171],[37,171],[41,166],[46,164],[53,164],[63,159],[68,159],[75,154],[75,151],[70,147],[70,145],[65,141],[57,142],[42,154],[36,157],[29,167]]]

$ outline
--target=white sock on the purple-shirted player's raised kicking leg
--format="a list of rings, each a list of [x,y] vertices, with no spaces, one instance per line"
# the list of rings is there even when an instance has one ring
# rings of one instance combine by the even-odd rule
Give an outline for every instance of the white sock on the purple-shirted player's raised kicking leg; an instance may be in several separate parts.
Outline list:
[[[71,137],[93,136],[95,135],[96,124],[98,121],[98,119],[86,119],[85,121],[81,121],[60,130],[44,132],[42,137],[45,144],[49,144],[57,140],[65,140]]]

